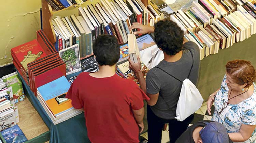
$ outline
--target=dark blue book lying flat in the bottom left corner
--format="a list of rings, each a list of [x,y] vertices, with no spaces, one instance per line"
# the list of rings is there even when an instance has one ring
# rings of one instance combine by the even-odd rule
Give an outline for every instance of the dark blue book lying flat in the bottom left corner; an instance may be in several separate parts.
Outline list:
[[[1,133],[7,143],[23,143],[28,140],[18,125],[3,130]]]

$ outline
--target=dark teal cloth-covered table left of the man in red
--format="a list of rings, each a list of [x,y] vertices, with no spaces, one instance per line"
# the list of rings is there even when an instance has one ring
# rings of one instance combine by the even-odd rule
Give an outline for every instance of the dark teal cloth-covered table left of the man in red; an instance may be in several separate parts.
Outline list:
[[[24,93],[50,130],[50,143],[90,143],[87,137],[84,113],[54,125],[37,97],[23,78],[21,79],[24,84]]]

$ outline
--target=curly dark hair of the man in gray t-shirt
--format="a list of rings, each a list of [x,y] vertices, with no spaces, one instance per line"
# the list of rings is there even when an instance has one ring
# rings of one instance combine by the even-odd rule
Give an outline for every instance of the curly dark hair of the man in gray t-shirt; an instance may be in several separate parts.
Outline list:
[[[183,46],[184,33],[173,21],[164,19],[155,23],[155,42],[167,55],[175,55]]]

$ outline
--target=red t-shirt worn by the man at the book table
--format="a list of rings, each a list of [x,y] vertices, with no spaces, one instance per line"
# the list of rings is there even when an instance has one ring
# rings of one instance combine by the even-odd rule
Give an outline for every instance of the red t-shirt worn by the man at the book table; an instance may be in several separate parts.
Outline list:
[[[139,128],[133,110],[148,99],[138,85],[118,75],[95,78],[82,72],[71,85],[67,98],[76,109],[84,109],[88,137],[92,143],[138,143]]]

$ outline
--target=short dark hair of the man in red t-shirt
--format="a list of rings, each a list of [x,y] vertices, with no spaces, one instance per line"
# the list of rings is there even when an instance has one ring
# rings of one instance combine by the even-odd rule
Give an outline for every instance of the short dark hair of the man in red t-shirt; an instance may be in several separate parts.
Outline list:
[[[113,35],[100,35],[93,44],[93,53],[99,65],[115,65],[120,58],[120,48]]]

